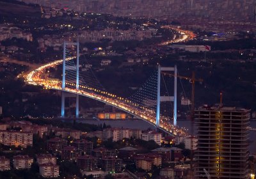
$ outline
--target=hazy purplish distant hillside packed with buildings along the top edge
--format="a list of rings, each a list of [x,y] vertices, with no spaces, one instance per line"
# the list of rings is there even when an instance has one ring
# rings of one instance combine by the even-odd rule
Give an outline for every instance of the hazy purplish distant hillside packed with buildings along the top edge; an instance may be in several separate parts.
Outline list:
[[[51,8],[110,13],[116,16],[255,21],[253,0],[21,0]]]

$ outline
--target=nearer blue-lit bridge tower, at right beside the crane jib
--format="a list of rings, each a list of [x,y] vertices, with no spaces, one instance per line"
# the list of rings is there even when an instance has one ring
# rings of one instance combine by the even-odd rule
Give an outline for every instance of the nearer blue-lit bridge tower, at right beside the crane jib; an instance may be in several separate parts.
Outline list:
[[[173,96],[161,96],[161,71],[174,71],[174,93]],[[156,106],[156,126],[160,125],[160,103],[164,101],[173,101],[173,125],[177,125],[177,66],[174,68],[158,66],[157,73],[157,106]]]

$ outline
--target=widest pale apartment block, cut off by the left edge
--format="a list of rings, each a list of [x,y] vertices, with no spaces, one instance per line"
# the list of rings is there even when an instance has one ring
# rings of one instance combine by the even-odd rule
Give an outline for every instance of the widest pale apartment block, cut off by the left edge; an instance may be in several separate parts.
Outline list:
[[[28,147],[33,145],[33,133],[23,131],[0,131],[0,143],[14,145],[15,147]]]

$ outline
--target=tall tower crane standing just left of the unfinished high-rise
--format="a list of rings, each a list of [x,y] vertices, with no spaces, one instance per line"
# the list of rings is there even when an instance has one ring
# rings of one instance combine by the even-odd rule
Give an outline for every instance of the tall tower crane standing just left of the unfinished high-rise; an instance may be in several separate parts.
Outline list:
[[[169,75],[169,76],[175,76],[173,74],[170,73],[165,73],[163,72],[163,75]],[[193,71],[192,73],[192,77],[188,77],[188,76],[180,76],[177,75],[177,78],[180,79],[184,79],[184,80],[189,80],[190,83],[192,83],[192,92],[191,92],[191,113],[190,113],[190,117],[191,117],[191,156],[190,156],[190,169],[191,169],[191,178],[193,178],[193,144],[194,144],[194,121],[195,121],[195,82],[204,82],[203,79],[196,79],[195,78],[195,72]]]

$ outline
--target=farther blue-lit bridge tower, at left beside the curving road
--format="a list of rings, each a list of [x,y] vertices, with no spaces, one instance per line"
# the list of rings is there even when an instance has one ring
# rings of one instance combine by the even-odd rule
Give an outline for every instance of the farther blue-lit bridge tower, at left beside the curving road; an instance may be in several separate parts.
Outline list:
[[[72,95],[65,92],[65,79],[66,79],[66,48],[67,46],[76,46],[76,89],[79,90],[79,41],[76,43],[64,41],[63,45],[63,73],[62,73],[62,93],[61,93],[61,117],[65,117],[65,97],[71,97]],[[74,95],[73,95],[74,96]],[[76,94],[76,118],[79,117],[79,95]]]

